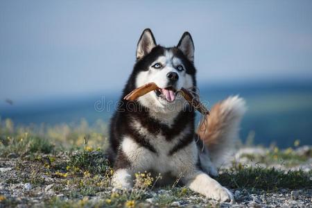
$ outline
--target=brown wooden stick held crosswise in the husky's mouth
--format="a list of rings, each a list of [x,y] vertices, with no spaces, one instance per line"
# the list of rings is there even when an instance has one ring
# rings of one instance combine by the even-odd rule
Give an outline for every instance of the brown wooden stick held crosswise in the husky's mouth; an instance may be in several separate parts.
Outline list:
[[[143,85],[141,87],[138,87],[137,89],[130,92],[128,95],[124,97],[127,101],[135,101],[140,96],[144,96],[144,94],[147,94],[148,92],[151,92],[155,89],[159,89],[159,87],[155,83],[147,83],[146,85]],[[182,87],[180,90],[182,93],[182,96],[187,100],[193,107],[195,107],[196,110],[198,110],[203,115],[209,115],[209,110],[200,103],[198,98],[196,96],[193,96],[191,92],[188,89],[185,89]]]

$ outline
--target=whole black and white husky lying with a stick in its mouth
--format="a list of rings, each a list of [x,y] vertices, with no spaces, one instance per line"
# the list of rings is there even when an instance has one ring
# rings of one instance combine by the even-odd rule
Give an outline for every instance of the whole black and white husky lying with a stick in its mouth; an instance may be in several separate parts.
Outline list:
[[[115,188],[131,189],[135,173],[150,171],[167,179],[182,176],[183,184],[207,198],[233,200],[232,193],[209,175],[218,174],[216,162],[238,137],[245,103],[234,96],[212,108],[207,133],[200,135],[206,144],[202,150],[202,142],[196,142],[195,110],[175,94],[182,87],[196,87],[193,61],[194,45],[189,33],[184,33],[177,46],[171,48],[157,45],[150,29],[142,33],[137,62],[110,125]],[[123,99],[133,89],[151,82],[161,89],[137,101]]]

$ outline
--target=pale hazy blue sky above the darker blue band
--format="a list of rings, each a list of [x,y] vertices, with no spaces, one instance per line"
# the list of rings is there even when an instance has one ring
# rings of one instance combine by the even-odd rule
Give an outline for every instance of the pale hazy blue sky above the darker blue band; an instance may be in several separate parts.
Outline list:
[[[193,37],[200,85],[312,80],[312,1],[0,1],[0,101],[119,90],[151,28]]]

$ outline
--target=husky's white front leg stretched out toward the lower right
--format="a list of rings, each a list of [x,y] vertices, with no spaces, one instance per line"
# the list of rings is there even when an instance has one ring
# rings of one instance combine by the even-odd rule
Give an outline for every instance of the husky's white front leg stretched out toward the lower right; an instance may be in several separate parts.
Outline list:
[[[234,197],[229,190],[221,186],[216,180],[212,179],[209,175],[203,173],[202,171],[190,173],[182,180],[191,190],[201,193],[207,198],[222,202],[234,200]]]

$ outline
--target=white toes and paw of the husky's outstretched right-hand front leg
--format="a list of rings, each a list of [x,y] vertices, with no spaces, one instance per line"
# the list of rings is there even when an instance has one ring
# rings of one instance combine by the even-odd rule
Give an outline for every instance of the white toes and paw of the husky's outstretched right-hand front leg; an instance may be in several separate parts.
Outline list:
[[[231,191],[221,185],[210,187],[205,195],[207,198],[218,200],[220,202],[234,202],[234,196]]]

